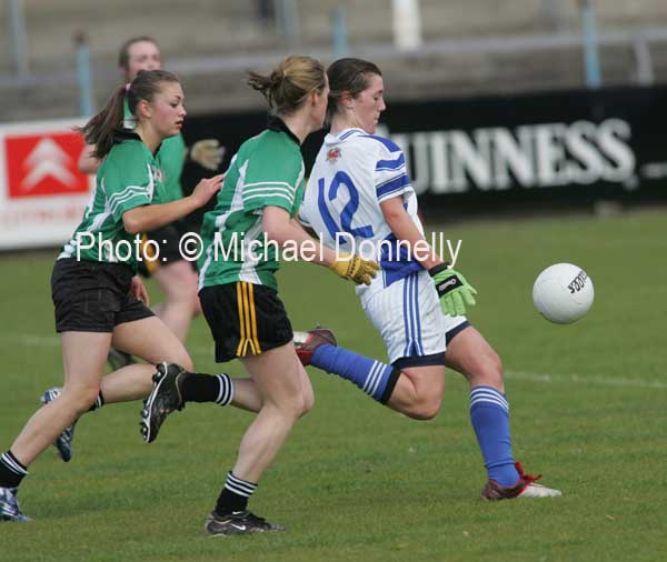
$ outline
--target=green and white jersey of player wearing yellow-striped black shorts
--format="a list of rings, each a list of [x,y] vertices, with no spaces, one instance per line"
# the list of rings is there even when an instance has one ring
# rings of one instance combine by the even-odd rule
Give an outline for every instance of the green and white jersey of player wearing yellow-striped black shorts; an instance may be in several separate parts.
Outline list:
[[[277,247],[266,243],[262,214],[280,207],[296,217],[303,199],[303,159],[299,140],[279,119],[235,154],[216,208],[201,227],[199,288],[236,281],[277,290]]]

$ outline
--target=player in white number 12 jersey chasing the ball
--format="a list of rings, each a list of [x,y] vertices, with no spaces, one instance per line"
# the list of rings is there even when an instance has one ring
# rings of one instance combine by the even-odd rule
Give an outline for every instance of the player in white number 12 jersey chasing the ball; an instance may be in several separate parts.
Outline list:
[[[482,499],[560,495],[535,484],[515,463],[500,359],[464,315],[476,291],[429,249],[402,150],[375,136],[386,109],[380,70],[368,61],[341,59],[327,73],[331,131],[299,217],[327,245],[347,238],[348,248],[352,240],[355,248],[360,242],[375,247],[381,273],[357,292],[385,340],[390,364],[334,345],[322,329],[295,335],[299,355],[418,420],[438,413],[445,365],[455,369],[470,383],[470,419],[488,472]]]

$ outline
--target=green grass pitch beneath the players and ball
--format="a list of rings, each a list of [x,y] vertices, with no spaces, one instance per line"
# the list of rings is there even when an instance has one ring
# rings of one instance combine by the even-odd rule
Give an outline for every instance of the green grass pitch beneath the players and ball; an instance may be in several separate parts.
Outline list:
[[[440,415],[417,422],[312,370],[316,408],[252,500],[288,533],[202,532],[250,414],[190,404],[148,446],[131,403],[88,415],[71,463],[49,450],[31,466],[20,499],[36,521],[0,528],[0,560],[664,560],[666,224],[667,212],[651,212],[445,229],[462,240],[458,268],[479,290],[470,320],[504,359],[515,455],[563,498],[478,500],[485,471],[456,373]],[[0,450],[61,381],[52,260],[0,259]],[[530,299],[537,273],[558,261],[586,268],[596,290],[591,312],[567,327],[542,320]],[[295,328],[319,321],[341,344],[385,358],[351,285],[330,272],[289,264],[281,295]],[[218,369],[202,319],[188,347],[200,370]]]

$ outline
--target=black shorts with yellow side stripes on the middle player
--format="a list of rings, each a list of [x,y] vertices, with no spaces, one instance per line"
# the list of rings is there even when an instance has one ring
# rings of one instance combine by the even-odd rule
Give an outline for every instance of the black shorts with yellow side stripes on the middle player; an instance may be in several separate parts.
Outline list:
[[[237,282],[205,287],[199,301],[216,342],[216,361],[223,363],[289,343],[292,329],[273,289]]]

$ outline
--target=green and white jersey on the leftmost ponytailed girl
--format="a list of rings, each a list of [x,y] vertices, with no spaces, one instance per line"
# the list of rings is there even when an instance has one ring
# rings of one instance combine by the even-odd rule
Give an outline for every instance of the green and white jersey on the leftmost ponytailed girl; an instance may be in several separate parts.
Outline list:
[[[136,207],[168,201],[159,162],[140,137],[122,130],[115,142],[98,169],[83,220],[58,259],[125,262],[137,271],[136,235],[125,230],[122,214]],[[132,250],[129,255],[128,248]]]

